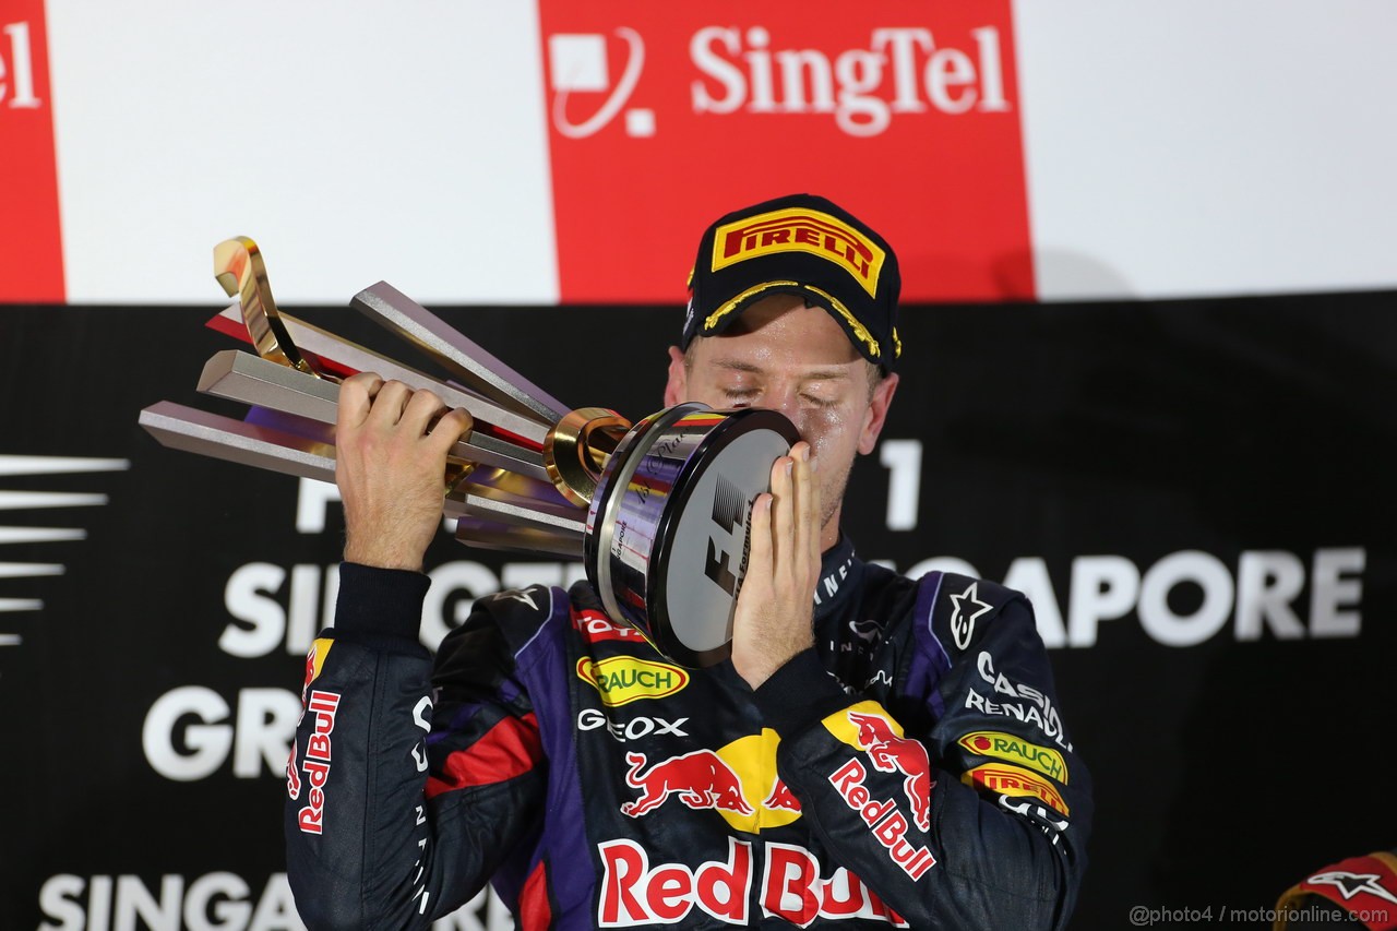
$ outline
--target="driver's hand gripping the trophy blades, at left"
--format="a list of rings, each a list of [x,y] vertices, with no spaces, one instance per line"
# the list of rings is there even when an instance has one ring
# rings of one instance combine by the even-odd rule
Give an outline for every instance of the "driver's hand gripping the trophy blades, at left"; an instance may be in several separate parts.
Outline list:
[[[422,570],[441,521],[446,456],[471,424],[467,411],[447,411],[432,391],[370,372],[339,386],[335,484],[346,562]]]

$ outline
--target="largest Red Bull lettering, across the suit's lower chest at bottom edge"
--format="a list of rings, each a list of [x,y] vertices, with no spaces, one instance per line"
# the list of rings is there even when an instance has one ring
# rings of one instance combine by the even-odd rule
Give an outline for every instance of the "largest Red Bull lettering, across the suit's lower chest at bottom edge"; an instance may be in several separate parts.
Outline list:
[[[664,863],[651,865],[645,849],[634,840],[610,840],[597,846],[602,860],[597,927],[626,928],[683,921],[694,909],[724,924],[752,923],[754,860],[764,853],[761,886],[756,902],[763,917],[806,927],[816,918],[882,920],[905,928],[907,921],[840,867],[828,878],[820,875],[814,854],[793,844],[753,844],[728,839],[728,858],[689,867]]]

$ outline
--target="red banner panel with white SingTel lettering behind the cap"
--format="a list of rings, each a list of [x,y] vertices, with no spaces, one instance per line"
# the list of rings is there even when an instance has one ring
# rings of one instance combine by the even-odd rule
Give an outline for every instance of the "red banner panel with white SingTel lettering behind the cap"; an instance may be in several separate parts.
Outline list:
[[[1009,0],[541,4],[560,299],[678,302],[728,210],[819,193],[904,299],[1032,298]]]

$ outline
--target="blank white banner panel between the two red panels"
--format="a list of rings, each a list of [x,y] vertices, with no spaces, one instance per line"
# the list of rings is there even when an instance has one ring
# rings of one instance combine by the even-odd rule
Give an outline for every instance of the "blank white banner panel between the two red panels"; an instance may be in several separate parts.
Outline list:
[[[49,0],[67,299],[556,301],[532,3]]]

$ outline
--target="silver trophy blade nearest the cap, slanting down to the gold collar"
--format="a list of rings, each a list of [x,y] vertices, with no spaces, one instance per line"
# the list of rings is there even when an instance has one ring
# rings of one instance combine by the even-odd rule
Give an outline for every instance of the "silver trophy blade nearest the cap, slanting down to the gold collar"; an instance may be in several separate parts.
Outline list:
[[[550,425],[567,417],[570,408],[388,282],[365,288],[349,303],[500,404]]]

